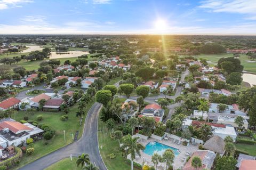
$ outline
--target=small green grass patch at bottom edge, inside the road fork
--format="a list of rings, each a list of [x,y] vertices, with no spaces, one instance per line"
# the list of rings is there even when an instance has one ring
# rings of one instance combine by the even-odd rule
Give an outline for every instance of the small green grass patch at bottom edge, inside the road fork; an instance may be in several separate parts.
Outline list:
[[[70,158],[66,158],[66,159],[62,159],[60,161],[58,161],[57,163],[47,167],[45,170],[69,170],[69,169],[74,169],[74,170],[78,170],[81,169],[81,167],[77,167],[76,166],[76,157],[72,158],[72,161],[70,160]]]

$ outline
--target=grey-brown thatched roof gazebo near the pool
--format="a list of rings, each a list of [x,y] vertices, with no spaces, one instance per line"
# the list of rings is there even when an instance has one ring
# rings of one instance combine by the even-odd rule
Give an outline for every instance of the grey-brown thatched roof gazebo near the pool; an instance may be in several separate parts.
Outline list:
[[[204,143],[204,149],[222,154],[225,151],[225,142],[219,136],[212,136]]]

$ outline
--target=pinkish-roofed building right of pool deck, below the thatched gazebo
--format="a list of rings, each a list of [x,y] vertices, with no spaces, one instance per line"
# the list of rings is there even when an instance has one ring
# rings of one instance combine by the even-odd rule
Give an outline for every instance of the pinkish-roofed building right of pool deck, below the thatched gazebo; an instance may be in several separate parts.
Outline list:
[[[194,157],[199,157],[202,160],[202,167],[194,168],[191,164]],[[190,159],[187,161],[183,170],[202,170],[202,169],[211,169],[213,166],[214,158],[216,154],[210,150],[198,150],[193,153]]]

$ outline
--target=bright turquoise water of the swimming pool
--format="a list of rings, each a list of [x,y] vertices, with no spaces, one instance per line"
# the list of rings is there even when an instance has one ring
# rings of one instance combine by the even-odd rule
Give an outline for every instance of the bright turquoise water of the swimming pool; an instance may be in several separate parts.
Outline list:
[[[150,156],[152,156],[154,153],[158,153],[159,155],[163,155],[163,153],[166,149],[173,150],[175,156],[179,155],[179,153],[180,153],[178,149],[169,147],[165,144],[158,143],[158,142],[149,142],[146,145],[145,150],[143,150],[143,152],[146,153],[147,155],[150,155]]]

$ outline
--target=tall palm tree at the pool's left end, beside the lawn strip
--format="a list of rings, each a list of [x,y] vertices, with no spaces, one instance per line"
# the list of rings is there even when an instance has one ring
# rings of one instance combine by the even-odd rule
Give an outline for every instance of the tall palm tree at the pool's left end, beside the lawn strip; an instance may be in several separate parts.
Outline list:
[[[132,137],[130,134],[126,135],[122,138],[122,147],[121,149],[125,151],[125,159],[127,158],[128,153],[131,153],[131,170],[133,170],[133,160],[135,159],[135,155],[140,154],[140,150],[144,150],[145,147],[137,143],[139,137]]]

